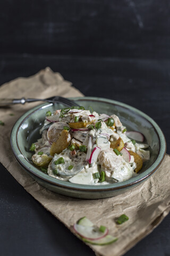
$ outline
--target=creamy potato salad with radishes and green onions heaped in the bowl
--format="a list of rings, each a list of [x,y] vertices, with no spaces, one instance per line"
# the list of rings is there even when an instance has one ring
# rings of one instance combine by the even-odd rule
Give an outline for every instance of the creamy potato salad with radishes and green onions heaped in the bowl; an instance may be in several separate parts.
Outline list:
[[[47,111],[41,138],[30,147],[33,164],[55,179],[83,185],[132,178],[149,160],[149,146],[120,119],[84,107]]]

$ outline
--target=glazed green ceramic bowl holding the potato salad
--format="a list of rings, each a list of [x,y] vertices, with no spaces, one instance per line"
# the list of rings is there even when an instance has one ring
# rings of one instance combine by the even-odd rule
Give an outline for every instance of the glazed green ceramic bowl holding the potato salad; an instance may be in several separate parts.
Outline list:
[[[98,113],[106,113],[108,115],[114,113],[120,117],[121,122],[128,130],[143,133],[146,142],[150,146],[150,160],[143,164],[142,170],[136,177],[109,185],[78,185],[48,176],[32,164],[32,153],[29,151],[29,148],[31,143],[40,138],[39,129],[43,125],[46,111],[50,110],[53,112],[55,109],[60,109],[64,106],[61,103],[44,103],[21,116],[15,123],[11,133],[13,153],[21,167],[33,179],[47,189],[62,195],[97,199],[120,195],[127,189],[138,186],[157,170],[166,153],[166,141],[163,132],[153,119],[138,109],[114,100],[94,97],[72,99],[77,101],[79,105],[84,106],[84,108],[91,106]]]

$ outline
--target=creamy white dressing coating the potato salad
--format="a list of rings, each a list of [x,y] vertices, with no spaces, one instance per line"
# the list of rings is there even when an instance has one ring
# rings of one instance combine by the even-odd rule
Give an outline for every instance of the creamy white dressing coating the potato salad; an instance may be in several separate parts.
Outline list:
[[[74,123],[75,117],[79,117],[79,122],[89,122],[94,125],[94,129],[87,130],[87,127],[76,131],[70,129],[69,123]],[[83,185],[106,185],[132,178],[134,175],[137,175],[134,172],[137,167],[134,157],[131,156],[130,161],[126,162],[126,158],[124,159],[121,154],[117,155],[110,148],[111,142],[121,138],[124,142],[124,147],[137,153],[143,161],[147,161],[150,158],[150,151],[145,150],[148,148],[148,145],[137,142],[133,144],[132,140],[126,136],[126,132],[123,132],[125,126],[122,125],[119,117],[114,114],[111,118],[114,119],[116,126],[114,130],[111,129],[111,127],[107,126],[108,117],[106,114],[99,115],[95,111],[91,114],[89,110],[83,109],[70,109],[70,111],[64,113],[63,117],[60,117],[60,110],[56,110],[52,116],[45,119],[44,126],[40,130],[42,137],[35,142],[36,154],[32,156],[33,161],[39,164],[43,155],[49,156],[53,159],[48,165],[48,175],[56,179]],[[103,121],[101,121],[101,127],[97,129],[95,125],[97,122],[100,122],[100,119]],[[50,156],[52,143],[57,141],[64,126],[69,129],[71,145],[74,145],[75,149],[71,151],[69,148],[65,148],[60,154]],[[90,143],[89,138],[91,138]],[[86,159],[87,150],[83,152],[77,149],[82,146],[86,149],[89,147],[89,159]],[[90,164],[95,147],[99,147],[101,151],[96,158],[93,158],[97,159],[95,160],[96,162]],[[43,152],[43,155],[38,155],[39,151]],[[59,158],[63,158],[61,163],[57,162]],[[102,171],[105,172],[105,180],[99,182],[101,180],[96,178],[94,174],[99,173],[100,175]]]

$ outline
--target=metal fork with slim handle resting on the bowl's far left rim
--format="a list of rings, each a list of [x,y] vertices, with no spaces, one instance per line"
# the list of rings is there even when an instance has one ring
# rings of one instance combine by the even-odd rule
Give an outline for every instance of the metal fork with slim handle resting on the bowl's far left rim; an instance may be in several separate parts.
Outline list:
[[[0,99],[0,106],[6,106],[11,104],[25,104],[25,102],[45,101],[49,103],[61,102],[66,106],[79,106],[75,101],[63,98],[61,96],[54,96],[47,99],[32,99],[32,98],[21,98],[21,99]]]

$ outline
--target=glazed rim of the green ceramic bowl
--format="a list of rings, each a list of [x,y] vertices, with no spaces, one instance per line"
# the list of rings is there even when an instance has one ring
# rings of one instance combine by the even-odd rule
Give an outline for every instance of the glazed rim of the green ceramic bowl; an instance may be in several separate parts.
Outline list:
[[[155,161],[149,166],[149,168],[143,172],[138,174],[135,177],[132,177],[129,180],[120,182],[120,183],[112,183],[108,185],[80,185],[77,183],[71,183],[68,181],[62,181],[55,179],[53,177],[50,177],[49,175],[41,172],[37,167],[35,167],[32,163],[28,161],[27,158],[25,158],[20,150],[19,143],[18,143],[18,135],[20,131],[21,125],[25,122],[26,119],[28,119],[33,113],[40,109],[48,108],[50,106],[53,106],[53,103],[42,103],[41,105],[38,105],[36,107],[31,108],[27,112],[25,112],[14,124],[12,131],[11,131],[11,137],[10,137],[10,142],[11,142],[11,147],[13,154],[16,158],[16,160],[19,162],[21,167],[23,167],[24,170],[27,170],[30,174],[33,176],[36,176],[36,178],[43,180],[44,182],[50,183],[50,185],[57,186],[57,187],[63,187],[66,189],[74,189],[78,191],[113,191],[117,189],[123,189],[126,187],[130,187],[132,185],[135,185],[137,183],[140,183],[141,181],[145,180],[148,178],[151,174],[153,174],[159,167],[159,165],[162,163],[165,154],[166,154],[166,140],[165,136],[160,129],[160,127],[157,125],[157,123],[149,117],[147,114],[143,113],[141,110],[134,108],[130,105],[127,105],[123,102],[111,100],[111,99],[105,99],[105,98],[99,98],[99,97],[74,97],[74,98],[69,98],[74,101],[97,101],[97,102],[104,102],[104,103],[109,103],[112,106],[117,105],[120,107],[123,107],[125,109],[129,109],[133,111],[135,114],[140,115],[142,118],[146,119],[147,122],[151,124],[151,126],[154,128],[155,132],[157,133],[158,139],[159,139],[159,154]],[[22,155],[20,158],[19,156]]]

